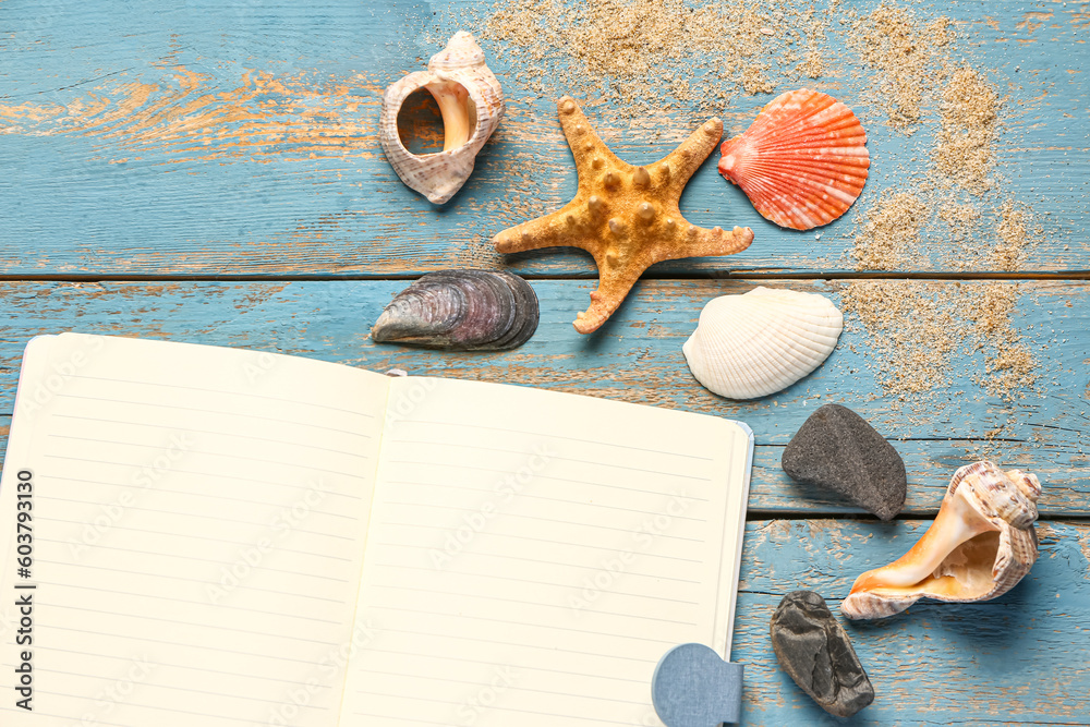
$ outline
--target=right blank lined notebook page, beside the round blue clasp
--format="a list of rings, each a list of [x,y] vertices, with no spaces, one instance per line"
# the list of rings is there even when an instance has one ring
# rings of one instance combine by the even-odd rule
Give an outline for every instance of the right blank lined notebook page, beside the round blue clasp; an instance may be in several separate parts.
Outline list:
[[[395,381],[341,725],[659,725],[662,655],[727,649],[748,431]]]

